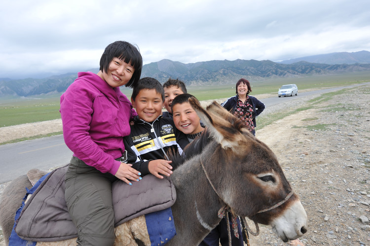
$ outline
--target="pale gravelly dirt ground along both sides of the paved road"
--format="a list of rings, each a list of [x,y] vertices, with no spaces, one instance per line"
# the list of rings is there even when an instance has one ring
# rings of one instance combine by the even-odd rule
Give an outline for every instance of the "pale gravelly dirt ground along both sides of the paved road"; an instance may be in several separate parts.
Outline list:
[[[308,99],[266,108],[259,117],[302,105],[310,105]],[[61,131],[58,120],[21,126],[28,133]],[[14,126],[6,132],[15,136],[22,131]],[[370,86],[349,89],[257,128],[256,137],[276,154],[306,210],[309,230],[300,245],[370,246]],[[250,237],[251,246],[289,245],[264,225],[258,237]]]

